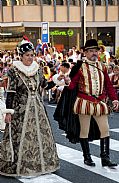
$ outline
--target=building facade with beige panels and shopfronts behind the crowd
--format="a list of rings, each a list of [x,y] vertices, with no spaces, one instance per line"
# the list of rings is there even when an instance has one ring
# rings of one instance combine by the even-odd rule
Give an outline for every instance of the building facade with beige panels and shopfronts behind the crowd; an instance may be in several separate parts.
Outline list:
[[[49,22],[50,43],[58,49],[81,46],[81,1],[0,0],[0,49],[12,49],[22,35],[36,45],[42,22]],[[108,51],[119,47],[119,0],[87,0],[86,39]]]

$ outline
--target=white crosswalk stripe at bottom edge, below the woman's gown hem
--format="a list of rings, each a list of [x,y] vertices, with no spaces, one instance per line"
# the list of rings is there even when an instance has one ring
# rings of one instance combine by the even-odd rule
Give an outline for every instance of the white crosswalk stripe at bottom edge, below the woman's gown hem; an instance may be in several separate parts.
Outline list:
[[[23,183],[72,183],[55,174],[46,174],[33,178],[21,178],[19,180]]]

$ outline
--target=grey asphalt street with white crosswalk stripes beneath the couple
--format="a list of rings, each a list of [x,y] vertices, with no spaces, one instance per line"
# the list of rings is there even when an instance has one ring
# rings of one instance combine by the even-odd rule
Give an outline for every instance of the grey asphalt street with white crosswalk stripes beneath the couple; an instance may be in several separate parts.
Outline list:
[[[55,105],[46,103],[49,119],[52,125],[57,150],[60,158],[60,169],[55,174],[44,175],[31,179],[13,179],[0,176],[0,183],[116,183],[119,182],[119,166],[116,169],[102,168],[100,164],[99,141],[90,143],[92,158],[96,167],[83,164],[80,144],[71,144],[65,138],[58,124],[53,120]],[[111,159],[119,164],[119,113],[109,117],[111,135]],[[1,134],[2,135],[2,134]]]

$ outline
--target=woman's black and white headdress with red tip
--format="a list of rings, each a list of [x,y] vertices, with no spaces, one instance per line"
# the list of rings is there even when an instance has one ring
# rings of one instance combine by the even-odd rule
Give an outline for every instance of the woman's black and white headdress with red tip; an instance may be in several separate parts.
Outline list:
[[[19,46],[19,53],[24,54],[25,52],[31,51],[31,50],[34,50],[33,44],[27,40],[22,40]]]

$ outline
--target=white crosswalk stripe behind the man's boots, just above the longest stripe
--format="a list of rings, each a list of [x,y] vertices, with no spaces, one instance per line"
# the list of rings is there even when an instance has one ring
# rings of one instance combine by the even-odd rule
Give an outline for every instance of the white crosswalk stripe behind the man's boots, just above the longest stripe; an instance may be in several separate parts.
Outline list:
[[[94,140],[91,143],[95,144],[95,145],[100,145],[100,140]],[[119,151],[119,141],[114,140],[114,139],[110,139],[110,149],[114,150],[114,151]]]

